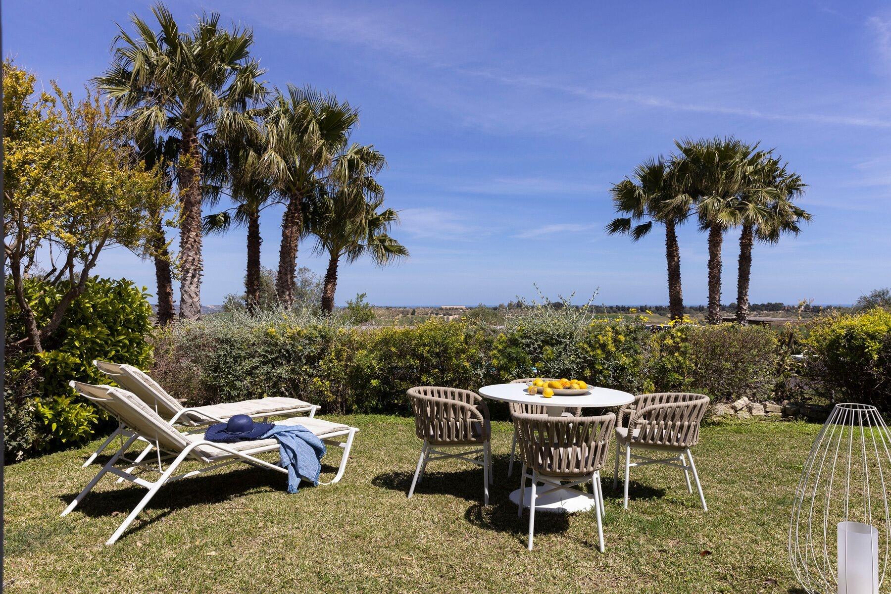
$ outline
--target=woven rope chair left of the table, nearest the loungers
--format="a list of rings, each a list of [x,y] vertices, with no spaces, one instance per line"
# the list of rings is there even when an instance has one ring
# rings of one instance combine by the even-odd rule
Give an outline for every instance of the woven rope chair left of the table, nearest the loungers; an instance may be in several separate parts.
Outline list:
[[[492,426],[489,409],[482,397],[451,387],[410,387],[405,394],[412,403],[414,432],[424,441],[418,467],[414,470],[409,498],[421,483],[430,460],[457,458],[483,467],[483,505],[489,504],[492,480]],[[466,450],[467,446],[480,447]],[[465,452],[443,452],[443,448],[461,447]],[[483,460],[477,460],[482,454]]]

